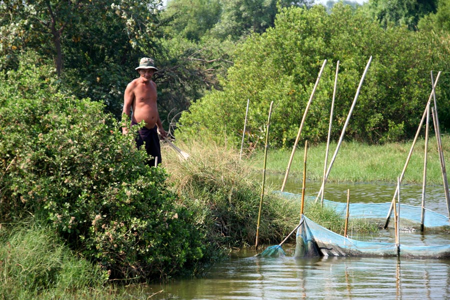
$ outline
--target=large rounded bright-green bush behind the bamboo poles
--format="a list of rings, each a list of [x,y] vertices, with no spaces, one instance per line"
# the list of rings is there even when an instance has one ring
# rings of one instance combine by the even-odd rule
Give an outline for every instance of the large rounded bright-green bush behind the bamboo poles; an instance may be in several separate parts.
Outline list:
[[[430,70],[445,70],[448,48],[439,40],[406,28],[381,28],[360,10],[337,4],[331,14],[285,8],[275,27],[254,34],[237,50],[223,90],[192,104],[180,119],[180,134],[210,134],[240,141],[245,103],[250,99],[246,140],[264,136],[268,106],[274,101],[271,143],[290,146],[297,134],[320,65],[327,66],[306,116],[302,138],[324,140],[327,134],[334,70],[340,61],[333,118],[337,138],[369,56],[373,56],[346,136],[372,143],[398,140],[415,133],[430,92]],[[448,79],[438,84],[438,98],[448,98]],[[441,102],[439,102],[441,103]],[[448,111],[448,103],[439,104]],[[205,117],[205,116],[208,117]],[[441,116],[442,115],[442,116]],[[439,114],[448,123],[445,113]]]

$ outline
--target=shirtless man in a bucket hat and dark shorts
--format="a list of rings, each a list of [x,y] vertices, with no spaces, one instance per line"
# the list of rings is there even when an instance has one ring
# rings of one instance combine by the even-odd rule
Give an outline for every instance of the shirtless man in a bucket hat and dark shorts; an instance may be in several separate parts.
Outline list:
[[[145,150],[151,156],[148,165],[154,166],[155,157],[157,157],[157,163],[161,163],[158,132],[162,137],[167,136],[164,128],[162,128],[156,105],[156,83],[151,80],[151,76],[157,68],[154,67],[153,59],[143,57],[140,59],[139,66],[135,69],[140,76],[126,85],[123,96],[122,120],[123,114],[126,114],[129,119],[130,109],[132,109],[131,126],[142,120],[145,122],[145,126],[138,130],[136,145],[139,148],[145,144]],[[128,133],[128,127],[123,126],[122,132],[123,134]]]

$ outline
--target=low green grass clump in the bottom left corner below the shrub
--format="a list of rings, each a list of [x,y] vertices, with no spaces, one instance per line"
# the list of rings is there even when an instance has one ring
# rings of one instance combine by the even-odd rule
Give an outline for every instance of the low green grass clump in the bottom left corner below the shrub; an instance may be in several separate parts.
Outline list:
[[[48,226],[24,222],[0,239],[2,299],[59,297],[100,288],[106,281],[100,267],[74,255]]]

